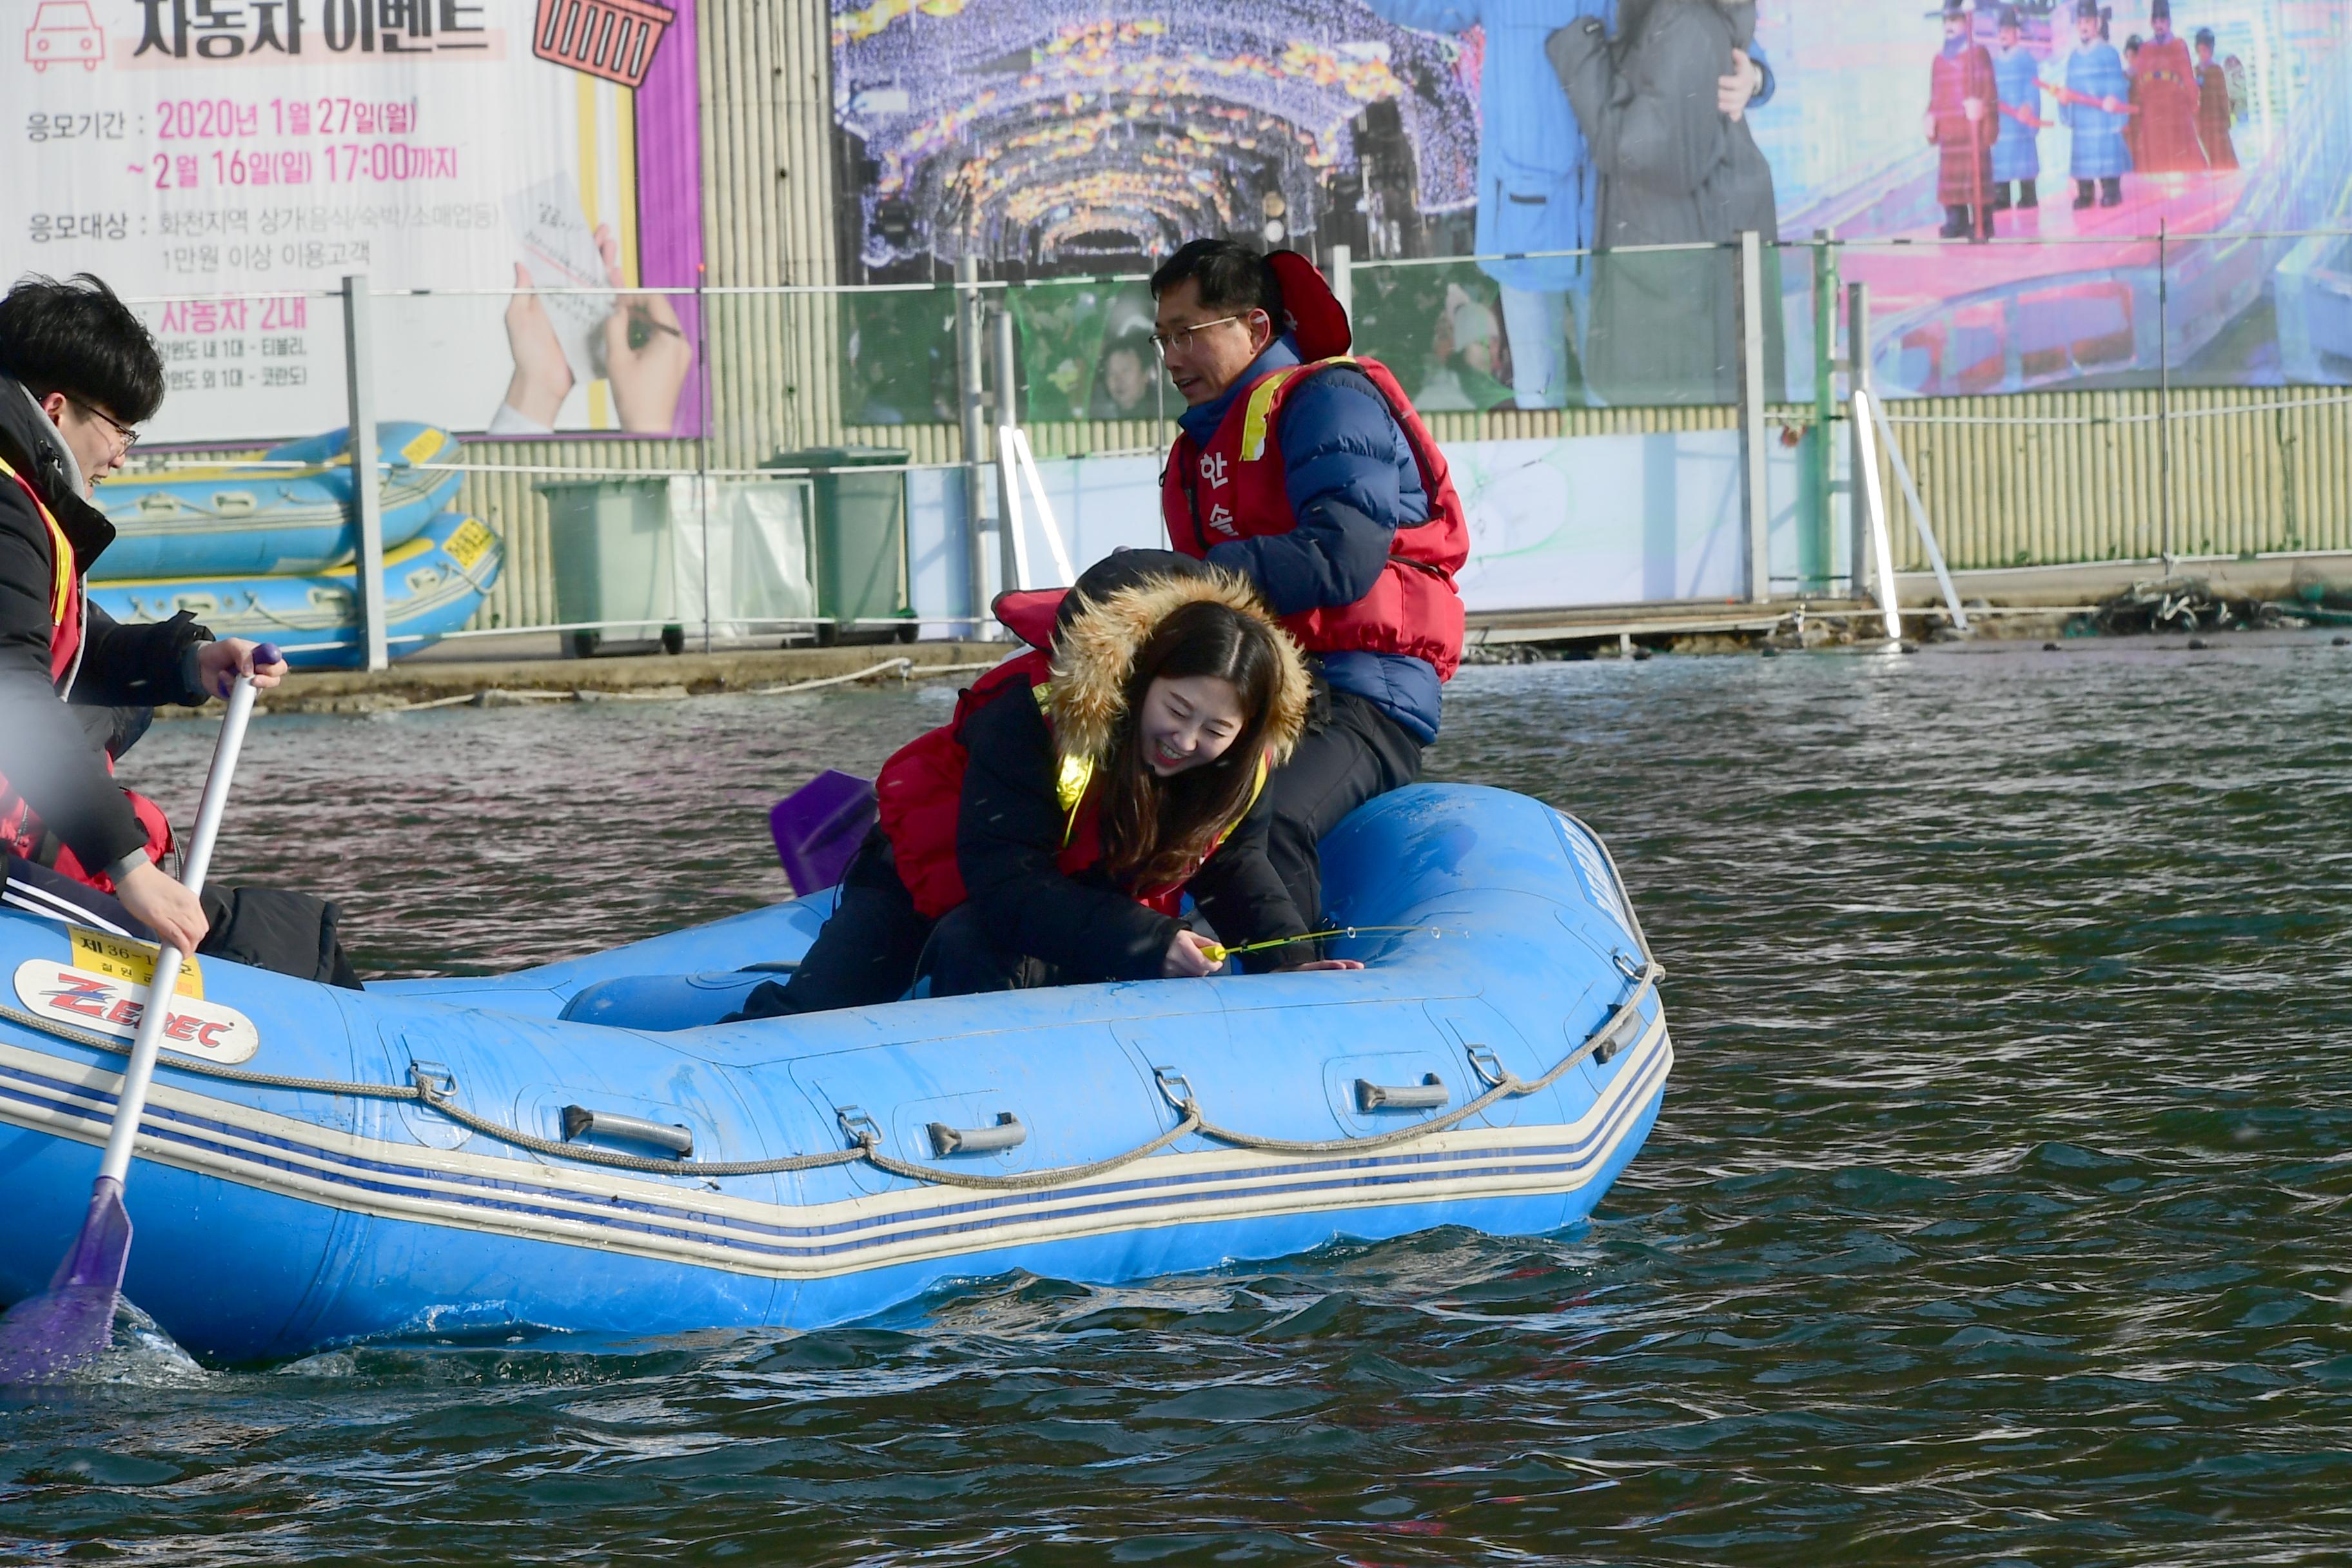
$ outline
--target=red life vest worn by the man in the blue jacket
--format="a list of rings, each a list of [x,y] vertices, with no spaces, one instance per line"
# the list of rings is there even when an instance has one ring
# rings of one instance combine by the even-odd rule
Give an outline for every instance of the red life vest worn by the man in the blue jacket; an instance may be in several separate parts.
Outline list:
[[[1160,477],[1169,543],[1207,559],[1211,545],[1298,527],[1284,489],[1282,404],[1334,364],[1362,371],[1381,390],[1414,449],[1430,517],[1397,529],[1388,567],[1362,599],[1284,616],[1282,625],[1310,654],[1411,654],[1435,665],[1437,679],[1454,679],[1463,661],[1463,597],[1454,590],[1454,574],[1470,559],[1470,520],[1454,494],[1444,454],[1378,360],[1341,355],[1265,371],[1232,400],[1207,449],[1178,435]]]

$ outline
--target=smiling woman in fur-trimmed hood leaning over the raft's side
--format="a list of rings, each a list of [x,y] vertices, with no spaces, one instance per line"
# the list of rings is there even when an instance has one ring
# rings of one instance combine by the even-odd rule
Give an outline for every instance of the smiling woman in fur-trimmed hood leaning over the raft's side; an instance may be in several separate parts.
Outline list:
[[[1256,590],[1122,550],[997,616],[1030,651],[882,766],[833,919],[741,1018],[896,1001],[920,973],[934,997],[1207,976],[1188,891],[1228,945],[1305,933],[1265,858],[1265,776],[1305,726],[1308,670]]]

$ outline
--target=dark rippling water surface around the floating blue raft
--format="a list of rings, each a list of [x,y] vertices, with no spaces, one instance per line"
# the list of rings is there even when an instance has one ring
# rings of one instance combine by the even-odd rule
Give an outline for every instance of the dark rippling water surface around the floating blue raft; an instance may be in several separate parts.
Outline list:
[[[1592,820],[1672,971],[1595,1225],[809,1335],[129,1356],[0,1406],[0,1561],[2352,1561],[2347,677],[1468,670],[1432,773]],[[943,712],[263,719],[219,875],[336,893],[372,971],[602,947],[781,896],[767,802]],[[127,776],[186,816],[209,745]]]

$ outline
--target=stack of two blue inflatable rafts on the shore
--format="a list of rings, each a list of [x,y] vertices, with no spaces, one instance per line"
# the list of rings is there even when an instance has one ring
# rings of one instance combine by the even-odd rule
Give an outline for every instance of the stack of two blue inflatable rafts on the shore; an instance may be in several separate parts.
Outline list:
[[[456,442],[430,425],[376,425],[383,461],[383,611],[393,658],[459,630],[506,552],[449,503]],[[115,621],[181,609],[219,637],[275,642],[296,665],[360,651],[350,433],[273,447],[252,463],[172,468],[99,487],[115,543],[89,597]]]

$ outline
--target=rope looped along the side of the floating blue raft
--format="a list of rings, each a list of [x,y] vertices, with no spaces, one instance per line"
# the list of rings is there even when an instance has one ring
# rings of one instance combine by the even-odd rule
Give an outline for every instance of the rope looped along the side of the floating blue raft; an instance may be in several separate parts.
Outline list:
[[[1362,931],[1369,926],[1357,926],[1357,929]],[[1322,936],[1331,933],[1327,931]],[[256,1088],[287,1088],[294,1093],[343,1095],[358,1100],[405,1100],[412,1105],[423,1105],[426,1110],[440,1112],[442,1117],[468,1131],[482,1133],[485,1138],[494,1138],[517,1150],[548,1154],[553,1159],[572,1159],[588,1166],[607,1166],[614,1171],[644,1171],[654,1175],[708,1175],[708,1178],[783,1175],[788,1171],[823,1171],[828,1166],[847,1166],[866,1161],[887,1175],[903,1175],[906,1180],[931,1182],[941,1187],[971,1187],[978,1192],[1035,1192],[1040,1187],[1061,1187],[1068,1182],[1082,1182],[1103,1175],[1108,1171],[1117,1171],[1120,1166],[1129,1166],[1138,1159],[1157,1154],[1160,1150],[1192,1133],[1200,1133],[1211,1143],[1223,1143],[1228,1147],[1249,1150],[1256,1154],[1364,1154],[1367,1150],[1388,1150],[1399,1143],[1414,1143],[1418,1138],[1428,1138],[1430,1133],[1442,1133],[1451,1126],[1461,1126],[1463,1121],[1479,1114],[1489,1105],[1496,1105],[1498,1100],[1517,1100],[1531,1093],[1543,1093],[1545,1088],[1557,1084],[1571,1067],[1597,1053],[1602,1046],[1611,1046],[1611,1041],[1616,1041],[1616,1046],[1632,1044],[1630,1039],[1618,1041],[1618,1032],[1625,1027],[1628,1018],[1639,1023],[1642,999],[1658,987],[1658,980],[1663,978],[1665,971],[1653,959],[1637,966],[1632,959],[1623,954],[1618,957],[1618,969],[1632,983],[1632,992],[1616,1006],[1616,1011],[1609,1013],[1609,1018],[1602,1020],[1602,1025],[1592,1034],[1585,1037],[1581,1046],[1559,1058],[1543,1077],[1522,1079],[1517,1072],[1505,1067],[1503,1060],[1494,1056],[1494,1051],[1489,1051],[1486,1046],[1470,1046],[1470,1067],[1486,1084],[1486,1093],[1477,1095],[1461,1110],[1446,1112],[1444,1117],[1432,1117],[1428,1121],[1399,1126],[1392,1133],[1374,1133],[1369,1138],[1315,1138],[1315,1140],[1261,1138],[1256,1133],[1237,1133],[1228,1126],[1209,1121],[1209,1117],[1200,1107],[1200,1098],[1192,1091],[1192,1084],[1174,1067],[1157,1067],[1155,1074],[1160,1081],[1160,1093],[1167,1098],[1171,1107],[1176,1107],[1176,1126],[1160,1133],[1150,1143],[1141,1143],[1108,1159],[1096,1159],[1084,1166],[1056,1166],[1051,1171],[1030,1171],[1023,1175],[974,1175],[964,1171],[941,1171],[934,1166],[917,1166],[903,1159],[894,1159],[882,1152],[880,1128],[875,1128],[870,1121],[854,1124],[847,1114],[842,1117],[842,1131],[854,1140],[851,1147],[847,1150],[828,1150],[826,1154],[788,1154],[783,1159],[729,1159],[729,1161],[647,1159],[642,1154],[616,1154],[612,1150],[595,1150],[579,1143],[539,1138],[534,1133],[524,1133],[522,1128],[492,1121],[489,1117],[477,1117],[475,1112],[466,1110],[452,1098],[456,1093],[456,1077],[433,1072],[414,1063],[409,1063],[407,1084],[360,1084],[343,1079],[299,1079],[280,1072],[249,1072],[245,1067],[223,1067],[219,1063],[205,1063],[191,1056],[179,1056],[176,1051],[165,1051],[162,1056],[165,1065],[179,1072],[193,1072],[212,1079],[223,1079],[230,1084],[252,1084]],[[115,1051],[122,1044],[118,1039],[103,1034],[89,1034],[85,1030],[75,1030],[64,1023],[52,1023],[47,1018],[40,1018],[35,1013],[24,1013],[12,1006],[0,1006],[0,1018],[99,1051]],[[1635,1039],[1637,1037],[1639,1034],[1635,1034]]]

